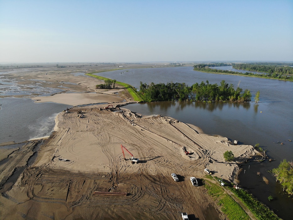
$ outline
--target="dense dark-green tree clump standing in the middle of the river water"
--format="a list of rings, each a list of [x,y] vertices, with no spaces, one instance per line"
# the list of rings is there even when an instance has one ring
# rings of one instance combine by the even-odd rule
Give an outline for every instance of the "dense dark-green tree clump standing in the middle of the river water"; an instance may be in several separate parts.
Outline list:
[[[225,80],[221,81],[221,85],[209,84],[203,81],[195,83],[191,87],[185,83],[164,83],[147,85],[140,82],[140,93],[146,102],[160,101],[184,101],[189,97],[194,101],[213,102],[213,101],[231,101],[231,102],[250,102],[251,93],[249,90],[242,91],[237,87],[234,89],[233,84],[228,85]]]

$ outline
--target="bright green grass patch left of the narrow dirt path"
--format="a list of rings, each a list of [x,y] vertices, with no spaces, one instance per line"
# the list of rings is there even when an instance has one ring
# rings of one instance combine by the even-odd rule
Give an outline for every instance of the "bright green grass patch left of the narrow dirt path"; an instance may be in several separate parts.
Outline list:
[[[230,220],[250,219],[242,207],[230,195],[226,194],[220,186],[205,180],[205,188],[208,194],[218,202],[222,212],[225,213]]]

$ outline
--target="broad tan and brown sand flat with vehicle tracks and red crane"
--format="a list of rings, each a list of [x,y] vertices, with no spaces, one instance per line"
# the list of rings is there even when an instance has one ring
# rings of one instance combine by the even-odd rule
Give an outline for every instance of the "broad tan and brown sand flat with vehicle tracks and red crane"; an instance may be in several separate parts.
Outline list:
[[[2,189],[2,216],[178,219],[185,210],[205,219],[210,207],[221,216],[205,188],[193,187],[189,178],[203,178],[208,167],[214,175],[232,180],[238,166],[224,163],[223,153],[231,150],[235,157],[247,158],[255,155],[252,146],[231,145],[227,138],[202,134],[173,118],[99,110],[104,106],[74,107],[58,115],[58,131],[45,140],[35,162],[11,190]],[[83,118],[77,117],[80,111]],[[30,143],[27,149],[35,142]],[[140,162],[125,161],[121,144]],[[183,146],[191,155],[185,155]],[[14,153],[23,157],[28,152]],[[17,167],[18,159],[13,161]],[[10,171],[6,169],[3,174]],[[170,173],[177,173],[180,181],[174,182]],[[127,196],[94,195],[94,191]]]

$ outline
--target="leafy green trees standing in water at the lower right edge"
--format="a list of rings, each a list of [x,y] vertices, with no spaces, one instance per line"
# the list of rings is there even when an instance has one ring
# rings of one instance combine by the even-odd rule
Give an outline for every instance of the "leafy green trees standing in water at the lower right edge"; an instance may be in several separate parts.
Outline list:
[[[289,195],[293,195],[293,162],[284,159],[272,173],[283,186],[283,191],[286,190]]]

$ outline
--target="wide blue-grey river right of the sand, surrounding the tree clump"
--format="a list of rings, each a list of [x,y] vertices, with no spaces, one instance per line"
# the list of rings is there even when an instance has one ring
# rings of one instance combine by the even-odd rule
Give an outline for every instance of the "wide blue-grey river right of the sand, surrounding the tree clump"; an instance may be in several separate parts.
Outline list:
[[[246,77],[237,75],[211,74],[194,71],[193,67],[123,69],[98,75],[133,85],[139,89],[143,83],[179,82],[191,86],[201,81],[220,85],[221,80],[233,84],[234,88],[249,89],[253,95],[260,91],[260,101],[250,103],[199,103],[158,102],[132,104],[127,108],[144,115],[164,115],[184,123],[200,127],[206,134],[221,135],[240,144],[257,143],[267,150],[274,162],[242,166],[239,175],[241,185],[249,189],[260,201],[274,209],[283,219],[292,219],[292,198],[284,195],[280,184],[268,170],[278,167],[280,161],[293,161],[293,82]],[[280,145],[278,143],[283,143]],[[244,173],[245,170],[245,173]],[[260,172],[261,175],[257,175]],[[268,179],[266,183],[264,178]],[[268,196],[275,199],[268,201]]]

